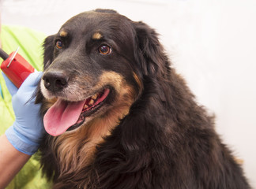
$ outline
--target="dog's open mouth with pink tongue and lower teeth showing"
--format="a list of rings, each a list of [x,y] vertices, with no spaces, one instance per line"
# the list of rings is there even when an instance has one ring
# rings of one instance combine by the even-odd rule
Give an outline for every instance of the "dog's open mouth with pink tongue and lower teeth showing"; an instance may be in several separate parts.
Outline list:
[[[50,135],[56,136],[80,127],[85,122],[85,117],[92,116],[104,105],[109,93],[110,90],[105,88],[79,102],[58,98],[43,117],[44,128]]]

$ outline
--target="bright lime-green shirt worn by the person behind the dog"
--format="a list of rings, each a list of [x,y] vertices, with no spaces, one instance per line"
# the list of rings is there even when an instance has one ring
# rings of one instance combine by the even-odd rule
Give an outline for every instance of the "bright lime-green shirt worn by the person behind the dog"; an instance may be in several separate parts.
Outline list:
[[[0,37],[2,50],[5,50],[7,54],[17,50],[19,46],[18,53],[22,57],[38,71],[43,69],[42,45],[45,39],[43,33],[24,27],[2,25]],[[2,63],[2,58],[0,58],[0,62]],[[2,135],[13,124],[15,116],[11,102],[12,97],[7,90],[2,74],[0,74],[0,85],[2,87],[2,95],[0,95],[0,135]],[[47,183],[47,180],[42,177],[38,155],[34,154],[6,188],[34,189],[50,187],[51,184]]]

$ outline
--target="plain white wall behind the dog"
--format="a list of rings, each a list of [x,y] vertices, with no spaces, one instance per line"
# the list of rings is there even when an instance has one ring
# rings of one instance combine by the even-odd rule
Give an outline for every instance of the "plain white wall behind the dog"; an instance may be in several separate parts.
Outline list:
[[[5,0],[2,22],[54,34],[70,17],[96,8],[116,9],[156,28],[198,102],[216,114],[217,132],[243,159],[256,188],[256,1]]]

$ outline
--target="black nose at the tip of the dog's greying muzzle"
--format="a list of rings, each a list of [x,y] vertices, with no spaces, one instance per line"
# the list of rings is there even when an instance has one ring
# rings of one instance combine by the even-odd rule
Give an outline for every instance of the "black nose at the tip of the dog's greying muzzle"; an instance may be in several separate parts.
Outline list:
[[[44,86],[50,91],[61,91],[67,86],[69,76],[64,72],[46,72],[43,75]]]

